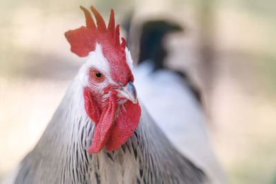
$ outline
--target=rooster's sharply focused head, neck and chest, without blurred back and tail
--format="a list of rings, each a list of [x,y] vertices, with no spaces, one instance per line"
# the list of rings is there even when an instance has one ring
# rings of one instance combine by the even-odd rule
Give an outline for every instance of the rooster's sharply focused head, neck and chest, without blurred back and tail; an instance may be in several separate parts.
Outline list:
[[[81,6],[86,26],[65,33],[86,63],[10,183],[208,183],[137,99],[132,58],[114,11],[106,26],[90,9],[97,25]]]

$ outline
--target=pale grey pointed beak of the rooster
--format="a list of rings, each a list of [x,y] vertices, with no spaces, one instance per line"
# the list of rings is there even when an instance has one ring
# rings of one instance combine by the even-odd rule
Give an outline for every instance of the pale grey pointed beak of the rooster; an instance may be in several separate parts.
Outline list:
[[[127,85],[117,90],[117,92],[119,92],[120,96],[132,101],[132,103],[137,103],[137,92],[132,82],[129,81]]]

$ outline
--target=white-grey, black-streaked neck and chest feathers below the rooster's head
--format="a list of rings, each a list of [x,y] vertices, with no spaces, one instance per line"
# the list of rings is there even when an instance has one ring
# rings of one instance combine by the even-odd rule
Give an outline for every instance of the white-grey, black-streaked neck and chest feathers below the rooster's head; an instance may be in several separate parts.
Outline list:
[[[135,134],[119,150],[88,154],[95,124],[76,78],[39,143],[17,167],[15,183],[207,183],[141,105]]]

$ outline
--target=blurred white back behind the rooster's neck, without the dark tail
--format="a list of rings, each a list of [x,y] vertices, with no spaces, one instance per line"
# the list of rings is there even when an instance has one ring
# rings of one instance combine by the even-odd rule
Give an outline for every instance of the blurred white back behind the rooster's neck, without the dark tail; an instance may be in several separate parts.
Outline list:
[[[206,171],[214,183],[223,183],[224,174],[208,141],[208,122],[197,99],[181,76],[152,69],[149,62],[134,69],[139,99],[177,150]]]

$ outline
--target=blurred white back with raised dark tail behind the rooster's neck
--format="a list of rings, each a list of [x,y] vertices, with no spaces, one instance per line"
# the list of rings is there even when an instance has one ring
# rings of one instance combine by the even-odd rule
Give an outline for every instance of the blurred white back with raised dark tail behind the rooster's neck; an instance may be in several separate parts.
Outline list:
[[[177,150],[204,170],[213,183],[224,183],[224,173],[208,140],[199,90],[186,74],[164,65],[164,37],[182,31],[181,27],[161,20],[147,21],[141,29],[139,62],[134,70],[139,98]]]

